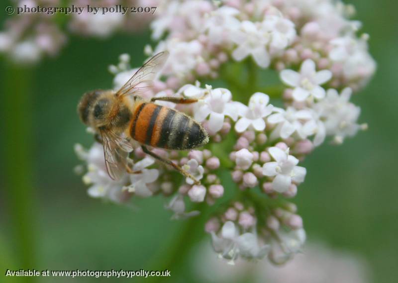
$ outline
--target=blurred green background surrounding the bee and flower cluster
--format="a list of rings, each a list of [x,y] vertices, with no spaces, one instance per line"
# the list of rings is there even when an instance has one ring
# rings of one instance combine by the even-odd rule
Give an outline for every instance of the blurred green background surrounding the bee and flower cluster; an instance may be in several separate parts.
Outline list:
[[[324,144],[310,155],[303,164],[307,178],[294,202],[309,239],[322,239],[365,258],[372,282],[396,283],[397,4],[393,0],[349,2],[357,8],[362,31],[371,35],[370,52],[378,63],[369,86],[353,97],[362,108],[360,121],[367,122],[369,130],[342,146]],[[4,18],[2,13],[1,22]],[[150,269],[168,252],[170,239],[181,233],[182,223],[170,220],[161,197],[134,200],[132,207],[104,203],[90,198],[73,172],[79,164],[73,145],[92,143],[76,114],[80,96],[111,86],[107,66],[117,63],[119,54],[131,54],[132,65],[140,65],[148,42],[149,33],[119,34],[107,40],[71,37],[60,56],[34,68],[15,68],[1,61],[3,274],[23,267]],[[199,231],[192,233],[199,238]],[[178,248],[184,254],[184,246]],[[189,262],[179,263],[171,272],[172,282],[200,282]],[[93,281],[107,279],[78,279]]]

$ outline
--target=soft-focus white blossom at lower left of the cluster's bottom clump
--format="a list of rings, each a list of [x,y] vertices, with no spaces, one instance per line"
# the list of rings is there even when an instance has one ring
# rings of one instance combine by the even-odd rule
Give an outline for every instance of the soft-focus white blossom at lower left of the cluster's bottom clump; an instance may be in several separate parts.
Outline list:
[[[260,246],[256,233],[244,233],[239,235],[239,230],[232,221],[227,221],[217,236],[211,232],[213,249],[221,257],[231,260],[234,264],[239,256],[248,259],[262,259],[269,251],[268,245]]]

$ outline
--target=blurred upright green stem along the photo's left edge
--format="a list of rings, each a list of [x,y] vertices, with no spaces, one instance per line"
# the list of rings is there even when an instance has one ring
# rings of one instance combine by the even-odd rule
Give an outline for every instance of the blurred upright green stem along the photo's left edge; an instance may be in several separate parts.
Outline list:
[[[6,198],[17,268],[35,268],[35,206],[32,185],[32,70],[9,66],[3,82]],[[37,98],[36,98],[37,99]],[[34,277],[20,278],[34,282]]]

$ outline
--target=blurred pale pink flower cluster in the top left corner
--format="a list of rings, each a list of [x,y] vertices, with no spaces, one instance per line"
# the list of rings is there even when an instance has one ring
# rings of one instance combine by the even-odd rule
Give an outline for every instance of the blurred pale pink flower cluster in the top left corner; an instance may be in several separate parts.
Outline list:
[[[16,7],[27,9],[62,7],[61,0],[16,0]],[[121,0],[73,0],[70,5],[83,7],[83,12],[65,14],[23,13],[5,21],[0,32],[0,54],[5,54],[16,64],[29,65],[46,56],[56,56],[66,44],[70,33],[106,38],[120,30],[139,31],[148,26],[151,13],[88,12],[87,5],[110,7],[125,4]],[[148,6],[148,1],[129,0],[128,7]],[[156,2],[152,6],[156,6]]]

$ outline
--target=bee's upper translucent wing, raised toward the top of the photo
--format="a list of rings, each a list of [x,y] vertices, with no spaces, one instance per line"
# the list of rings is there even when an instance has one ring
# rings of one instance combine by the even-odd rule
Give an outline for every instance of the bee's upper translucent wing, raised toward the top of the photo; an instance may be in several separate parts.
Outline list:
[[[117,91],[116,96],[139,95],[152,88],[153,80],[163,68],[168,57],[168,51],[153,56]]]

